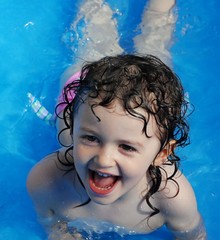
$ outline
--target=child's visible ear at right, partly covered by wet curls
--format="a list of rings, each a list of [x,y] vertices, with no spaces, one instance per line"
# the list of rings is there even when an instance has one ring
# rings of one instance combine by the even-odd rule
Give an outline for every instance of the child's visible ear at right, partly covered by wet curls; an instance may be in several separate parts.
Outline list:
[[[173,153],[176,146],[176,141],[171,140],[169,141],[166,146],[157,154],[155,160],[154,160],[154,166],[160,166],[163,165],[165,162],[167,162],[167,158],[170,154]]]

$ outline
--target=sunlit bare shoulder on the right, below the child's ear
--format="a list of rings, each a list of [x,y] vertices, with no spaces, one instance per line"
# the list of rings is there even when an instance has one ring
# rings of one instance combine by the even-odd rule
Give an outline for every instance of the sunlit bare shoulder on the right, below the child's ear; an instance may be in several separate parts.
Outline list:
[[[163,169],[168,176],[173,173],[171,166],[164,166]],[[157,194],[157,201],[166,225],[173,231],[188,231],[199,224],[200,214],[195,193],[180,171],[171,180],[163,182],[161,191]]]

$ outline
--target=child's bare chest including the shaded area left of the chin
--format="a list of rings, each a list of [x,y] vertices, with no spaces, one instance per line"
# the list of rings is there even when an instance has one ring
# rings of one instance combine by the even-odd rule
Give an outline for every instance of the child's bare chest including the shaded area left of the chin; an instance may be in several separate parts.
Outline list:
[[[75,188],[71,187],[73,185],[69,184],[69,181],[63,182],[61,186],[62,189],[55,191],[54,197],[52,197],[54,202],[51,208],[54,210],[55,221],[72,222],[77,219],[93,219],[94,222],[110,222],[128,230],[144,233],[164,224],[160,213],[150,217],[153,210],[146,201],[141,201],[141,193],[135,194],[127,200],[102,205],[88,201],[88,195],[84,189],[80,188],[80,185],[77,186],[77,191],[76,185]]]

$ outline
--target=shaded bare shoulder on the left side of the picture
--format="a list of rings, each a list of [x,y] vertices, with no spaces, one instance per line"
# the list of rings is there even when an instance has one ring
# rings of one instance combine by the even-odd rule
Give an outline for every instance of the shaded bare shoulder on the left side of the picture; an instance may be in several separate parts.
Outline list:
[[[63,150],[59,151],[59,159],[65,161]],[[73,185],[71,181],[74,172],[65,175],[65,170],[67,168],[65,169],[59,162],[58,152],[55,152],[37,163],[28,175],[27,189],[41,219],[59,215],[61,212],[59,205],[63,201],[61,199],[63,196],[68,198],[72,195],[71,200],[74,201],[75,195],[69,193],[69,185]],[[73,187],[71,189],[74,190]]]

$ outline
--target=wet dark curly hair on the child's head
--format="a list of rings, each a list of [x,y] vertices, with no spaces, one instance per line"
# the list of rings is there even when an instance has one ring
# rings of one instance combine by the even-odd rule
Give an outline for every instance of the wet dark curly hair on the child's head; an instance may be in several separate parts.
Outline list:
[[[71,95],[74,95],[73,100],[69,100]],[[178,76],[155,56],[119,55],[87,63],[82,68],[80,78],[64,87],[63,97],[64,102],[60,103],[66,105],[63,120],[71,134],[74,114],[87,98],[99,99],[97,104],[91,105],[94,115],[95,107],[109,107],[117,99],[130,115],[143,121],[142,131],[148,138],[149,118],[155,119],[161,149],[170,140],[175,140],[177,147],[189,143],[189,125],[186,120],[189,103],[184,97],[183,86]],[[144,109],[148,117],[136,111],[138,108]],[[66,151],[66,162],[63,164],[74,169],[74,160],[68,159],[71,148]],[[173,165],[174,172],[167,176],[167,181],[177,184],[174,176],[179,168],[179,160],[172,150],[166,164]],[[143,201],[153,210],[150,217],[159,213],[159,209],[151,204],[150,197],[160,188],[162,171],[165,170],[154,164],[148,169],[151,183]]]

